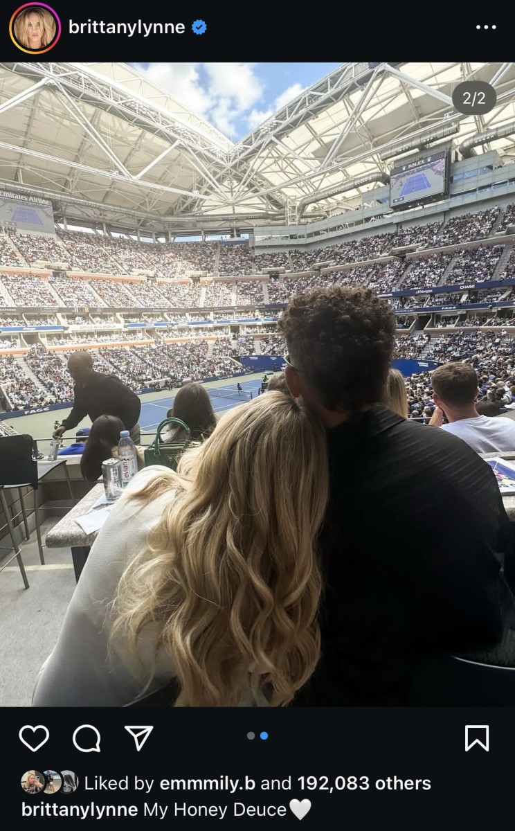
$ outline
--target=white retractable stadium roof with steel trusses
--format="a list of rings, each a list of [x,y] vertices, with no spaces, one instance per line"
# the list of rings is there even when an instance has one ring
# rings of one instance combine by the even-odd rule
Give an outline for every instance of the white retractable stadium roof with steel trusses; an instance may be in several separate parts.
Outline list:
[[[468,80],[493,84],[493,111],[454,110]],[[233,144],[125,64],[0,63],[0,188],[51,199],[75,224],[308,221],[373,198],[394,160],[442,142],[513,161],[515,64],[344,64]]]

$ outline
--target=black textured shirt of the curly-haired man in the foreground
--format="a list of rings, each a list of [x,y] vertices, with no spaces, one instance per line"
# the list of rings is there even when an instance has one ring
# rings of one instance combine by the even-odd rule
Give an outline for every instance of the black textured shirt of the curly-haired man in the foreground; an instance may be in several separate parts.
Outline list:
[[[444,430],[378,406],[327,435],[322,658],[294,704],[404,705],[422,656],[501,638],[508,516],[492,469]]]

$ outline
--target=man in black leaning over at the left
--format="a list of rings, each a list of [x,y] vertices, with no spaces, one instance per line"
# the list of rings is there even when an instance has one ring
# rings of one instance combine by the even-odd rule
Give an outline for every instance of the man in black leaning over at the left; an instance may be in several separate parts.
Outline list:
[[[86,416],[90,416],[91,421],[98,416],[117,416],[123,421],[125,429],[130,431],[130,438],[135,445],[139,445],[141,401],[135,392],[122,384],[120,378],[94,371],[89,352],[75,352],[71,355],[68,371],[75,385],[73,409],[54,430],[54,439],[61,438],[66,430],[76,427]]]

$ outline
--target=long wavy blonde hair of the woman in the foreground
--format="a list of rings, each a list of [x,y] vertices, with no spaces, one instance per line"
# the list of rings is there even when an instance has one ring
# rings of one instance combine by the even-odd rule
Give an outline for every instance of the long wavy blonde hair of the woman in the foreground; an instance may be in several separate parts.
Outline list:
[[[143,628],[157,625],[180,684],[175,706],[238,706],[263,688],[286,705],[320,656],[323,427],[291,396],[267,393],[132,498],[168,492],[148,551],[120,580],[111,642],[123,634],[136,655]]]

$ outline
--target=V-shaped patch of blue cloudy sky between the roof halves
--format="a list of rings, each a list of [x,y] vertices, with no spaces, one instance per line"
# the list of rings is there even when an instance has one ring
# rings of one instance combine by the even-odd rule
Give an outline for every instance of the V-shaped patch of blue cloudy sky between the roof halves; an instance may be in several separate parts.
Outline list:
[[[339,63],[132,63],[233,141]]]

